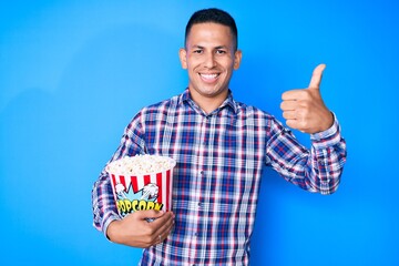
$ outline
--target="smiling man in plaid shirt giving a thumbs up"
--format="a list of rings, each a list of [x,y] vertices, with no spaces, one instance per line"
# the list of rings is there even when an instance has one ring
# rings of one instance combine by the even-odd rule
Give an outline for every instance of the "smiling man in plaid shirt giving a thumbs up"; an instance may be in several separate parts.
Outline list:
[[[228,84],[242,60],[237,44],[228,13],[195,12],[180,50],[188,88],[141,110],[111,160],[176,160],[173,213],[141,211],[120,219],[108,174],[94,184],[95,227],[112,242],[145,247],[141,265],[247,265],[265,166],[306,191],[337,190],[346,145],[319,93],[325,65],[314,70],[309,88],[283,94],[287,125],[310,134],[306,150],[274,116],[233,99]]]

